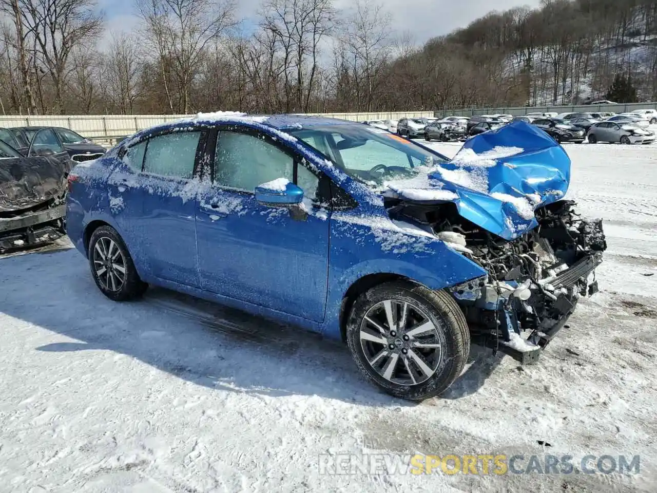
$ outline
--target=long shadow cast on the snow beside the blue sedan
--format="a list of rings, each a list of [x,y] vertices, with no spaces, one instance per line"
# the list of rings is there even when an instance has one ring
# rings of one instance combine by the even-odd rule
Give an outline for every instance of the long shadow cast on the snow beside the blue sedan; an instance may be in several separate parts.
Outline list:
[[[228,392],[413,405],[366,383],[340,341],[166,289],[149,289],[139,302],[112,302],[76,250],[0,262],[0,311],[67,338],[39,351],[109,350]],[[444,398],[481,387],[495,367],[484,351],[473,346],[472,364]]]

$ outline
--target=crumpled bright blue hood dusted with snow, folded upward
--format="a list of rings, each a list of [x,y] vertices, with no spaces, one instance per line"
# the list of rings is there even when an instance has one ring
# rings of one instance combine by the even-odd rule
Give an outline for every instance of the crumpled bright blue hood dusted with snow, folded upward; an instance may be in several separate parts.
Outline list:
[[[453,202],[463,218],[510,240],[536,227],[534,210],[564,197],[569,183],[564,149],[543,130],[514,122],[473,137],[438,168],[385,186],[400,199]]]

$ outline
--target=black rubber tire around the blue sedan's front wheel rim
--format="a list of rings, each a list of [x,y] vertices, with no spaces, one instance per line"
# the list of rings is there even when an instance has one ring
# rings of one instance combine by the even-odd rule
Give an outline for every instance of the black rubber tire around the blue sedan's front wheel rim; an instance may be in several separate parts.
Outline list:
[[[431,321],[436,327],[436,333],[438,333],[442,346],[440,359],[434,373],[416,385],[402,385],[384,378],[373,368],[365,355],[363,344],[368,344],[368,342],[361,344],[361,325],[364,324],[365,315],[384,300],[396,300],[419,306],[426,314],[428,321]],[[400,333],[402,333],[401,329]],[[384,283],[361,294],[353,304],[346,335],[351,355],[365,378],[388,394],[407,400],[424,400],[444,392],[461,375],[470,354],[468,324],[461,308],[451,295],[445,291],[431,291],[422,285],[408,281]],[[386,337],[390,337],[390,331]],[[411,342],[402,342],[401,344],[410,344]],[[380,347],[388,352],[385,346]],[[403,348],[397,346],[394,351],[403,351]],[[409,356],[411,355],[406,357]],[[405,356],[401,356],[401,358],[405,358]],[[396,359],[397,361],[399,360]]]

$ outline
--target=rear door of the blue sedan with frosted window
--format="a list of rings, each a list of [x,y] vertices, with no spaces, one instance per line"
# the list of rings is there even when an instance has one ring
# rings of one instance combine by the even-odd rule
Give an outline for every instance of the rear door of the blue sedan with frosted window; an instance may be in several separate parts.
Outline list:
[[[194,173],[205,151],[207,135],[208,130],[203,128],[170,129],[154,135],[127,149],[127,164],[137,179],[129,175],[110,179],[116,183],[118,197],[130,194],[133,212],[126,220],[144,270],[192,287],[200,285],[196,252],[198,181]],[[135,200],[141,206],[139,210],[134,210]],[[117,210],[124,206],[122,202],[114,200]]]

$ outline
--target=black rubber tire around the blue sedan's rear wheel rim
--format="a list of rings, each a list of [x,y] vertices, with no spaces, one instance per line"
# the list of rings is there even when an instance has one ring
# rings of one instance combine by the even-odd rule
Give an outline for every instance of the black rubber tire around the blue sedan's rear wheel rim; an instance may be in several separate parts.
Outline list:
[[[96,254],[97,250],[102,250],[104,248],[104,245],[107,245],[108,243],[111,245],[110,242],[113,242],[118,248],[121,260],[120,262],[117,262],[117,264],[114,264],[114,262],[112,262],[112,264],[114,266],[122,266],[125,270],[124,280],[116,289],[112,289],[112,285],[114,285],[115,281],[112,280],[112,283],[110,283],[111,279],[107,276],[104,281],[101,279],[102,273],[99,275],[99,271],[103,268],[101,264],[102,255],[101,252]],[[110,298],[110,300],[135,300],[141,298],[148,288],[148,284],[139,278],[139,274],[137,273],[137,269],[135,269],[135,264],[132,261],[130,252],[128,252],[124,241],[113,227],[101,226],[93,232],[91,239],[89,240],[87,256],[89,258],[89,267],[91,268],[93,280],[101,290],[102,294]],[[119,257],[117,256],[116,258]],[[101,268],[97,269],[96,267],[99,264],[101,265]],[[117,274],[120,273],[120,271],[116,272]],[[116,285],[114,285],[114,287],[116,287]]]

